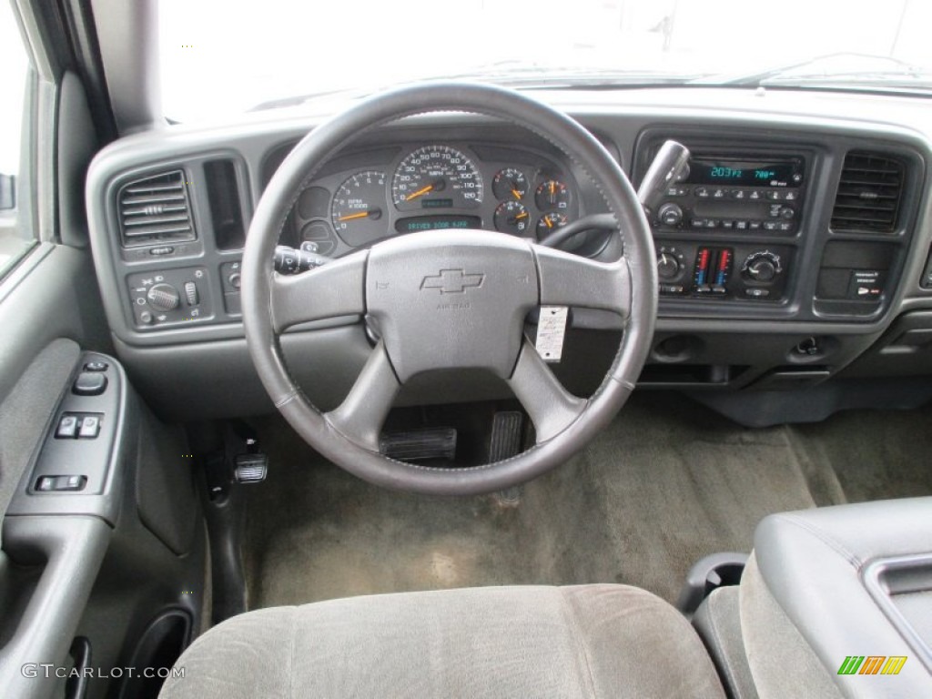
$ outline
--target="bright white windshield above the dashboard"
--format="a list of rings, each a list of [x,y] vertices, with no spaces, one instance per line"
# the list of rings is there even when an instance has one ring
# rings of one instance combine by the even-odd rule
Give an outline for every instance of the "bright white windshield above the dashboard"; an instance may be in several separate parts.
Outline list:
[[[932,90],[929,0],[160,0],[166,116],[421,78]]]

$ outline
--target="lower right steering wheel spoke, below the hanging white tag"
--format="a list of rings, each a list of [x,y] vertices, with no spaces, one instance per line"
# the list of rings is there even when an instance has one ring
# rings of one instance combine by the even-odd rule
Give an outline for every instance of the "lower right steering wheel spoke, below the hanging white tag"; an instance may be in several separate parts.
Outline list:
[[[508,385],[528,411],[538,444],[566,430],[583,414],[588,403],[563,388],[528,338],[521,346]]]

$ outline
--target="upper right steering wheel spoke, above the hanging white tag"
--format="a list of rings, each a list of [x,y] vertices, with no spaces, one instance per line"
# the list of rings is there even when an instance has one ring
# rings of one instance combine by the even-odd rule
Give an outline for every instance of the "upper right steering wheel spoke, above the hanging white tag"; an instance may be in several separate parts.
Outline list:
[[[602,308],[623,318],[630,315],[631,270],[624,256],[616,262],[596,262],[539,245],[534,253],[541,306]]]

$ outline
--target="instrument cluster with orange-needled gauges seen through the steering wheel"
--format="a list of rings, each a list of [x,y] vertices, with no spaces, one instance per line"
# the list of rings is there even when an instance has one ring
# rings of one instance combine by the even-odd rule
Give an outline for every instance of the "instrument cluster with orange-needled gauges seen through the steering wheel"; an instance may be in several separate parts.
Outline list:
[[[293,215],[300,247],[339,256],[394,235],[455,228],[541,240],[580,215],[569,169],[541,153],[449,143],[385,153],[337,160],[302,192]]]

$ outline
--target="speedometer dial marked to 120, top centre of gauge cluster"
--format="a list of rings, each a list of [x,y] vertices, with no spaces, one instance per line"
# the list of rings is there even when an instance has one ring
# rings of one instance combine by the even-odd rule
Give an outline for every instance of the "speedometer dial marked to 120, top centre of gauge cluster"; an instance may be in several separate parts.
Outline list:
[[[391,197],[401,211],[473,209],[482,203],[482,175],[456,148],[425,145],[399,163]]]

